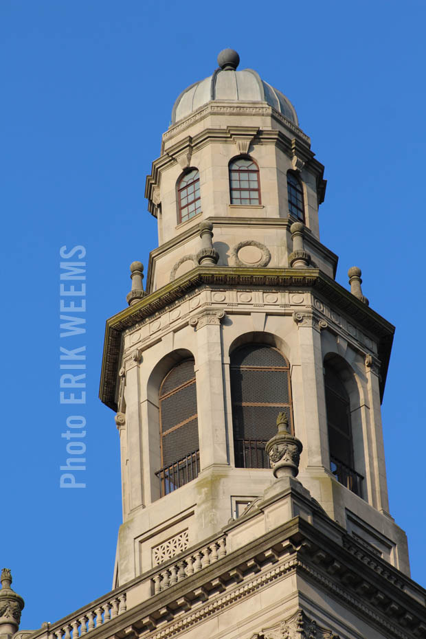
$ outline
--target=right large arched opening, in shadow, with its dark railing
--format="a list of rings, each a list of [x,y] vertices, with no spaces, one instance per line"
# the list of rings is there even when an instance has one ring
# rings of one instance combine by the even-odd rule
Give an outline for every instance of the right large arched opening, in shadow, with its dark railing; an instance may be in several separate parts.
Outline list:
[[[327,363],[324,364],[324,385],[330,469],[341,484],[361,496],[363,477],[355,471],[354,467],[348,391],[339,374]]]

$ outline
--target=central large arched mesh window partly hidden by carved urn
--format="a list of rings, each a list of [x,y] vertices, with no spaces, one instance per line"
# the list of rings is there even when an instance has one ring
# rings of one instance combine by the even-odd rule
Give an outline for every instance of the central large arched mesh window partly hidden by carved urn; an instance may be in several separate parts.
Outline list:
[[[230,370],[235,465],[269,468],[265,444],[280,412],[293,432],[289,362],[276,348],[247,344],[232,353]]]

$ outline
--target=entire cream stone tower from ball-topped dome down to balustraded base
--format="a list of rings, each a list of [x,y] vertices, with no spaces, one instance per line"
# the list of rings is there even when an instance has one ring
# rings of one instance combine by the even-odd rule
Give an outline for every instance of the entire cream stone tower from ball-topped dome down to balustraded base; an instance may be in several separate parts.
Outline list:
[[[291,102],[238,64],[225,49],[177,98],[146,181],[159,231],[146,289],[133,262],[128,307],[106,322],[113,590],[15,639],[426,637],[426,592],[388,512],[394,328],[357,267],[350,291],[335,282],[324,167]]]

